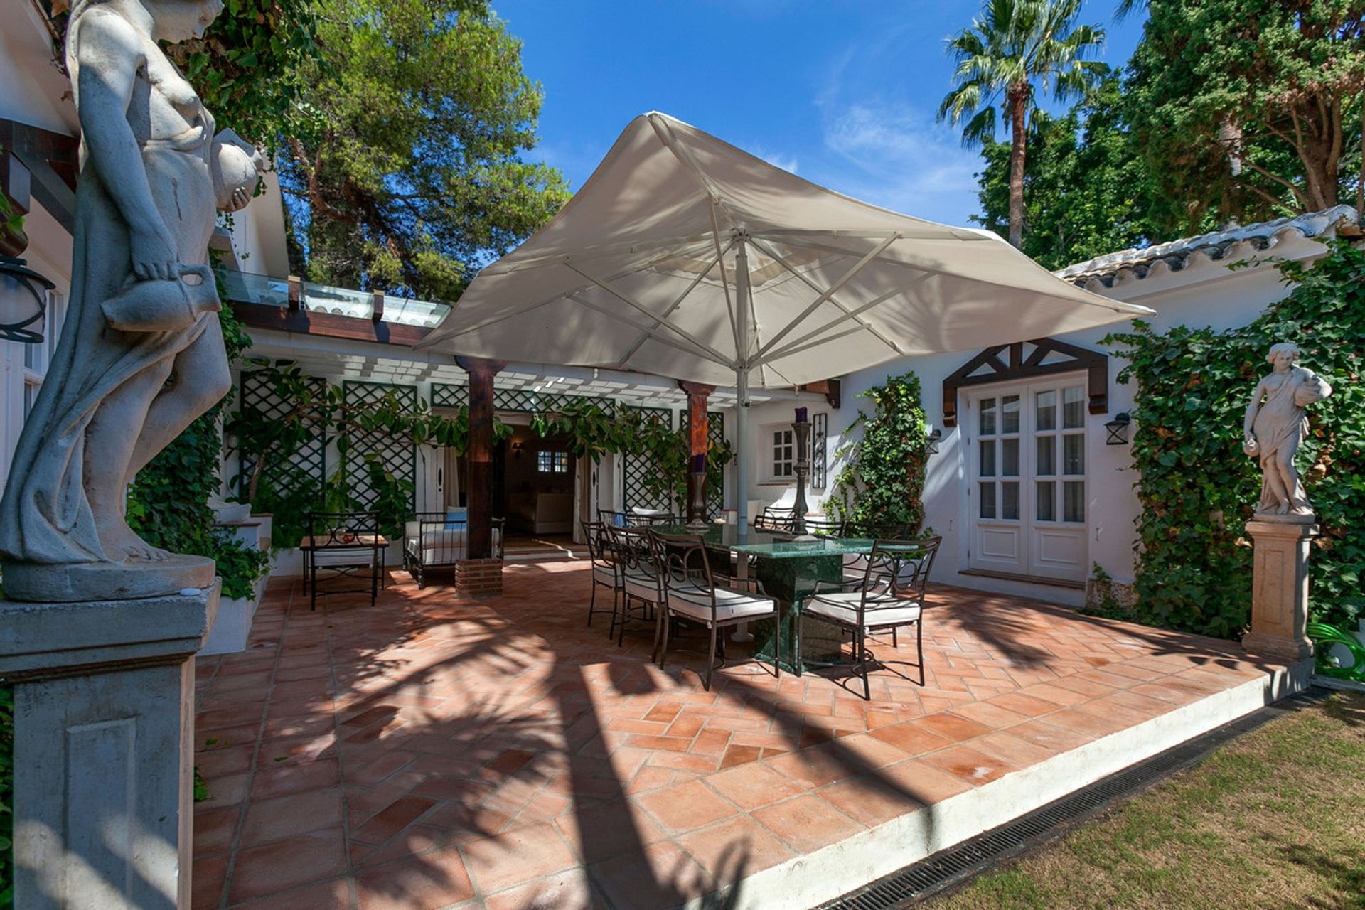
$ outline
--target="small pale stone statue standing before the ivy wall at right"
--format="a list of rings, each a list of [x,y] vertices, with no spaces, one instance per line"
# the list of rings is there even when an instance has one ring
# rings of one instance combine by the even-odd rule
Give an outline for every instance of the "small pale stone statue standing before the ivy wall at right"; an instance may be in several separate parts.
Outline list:
[[[1275,370],[1256,383],[1242,427],[1242,450],[1261,463],[1261,499],[1256,517],[1272,521],[1313,521],[1313,506],[1294,467],[1308,432],[1305,408],[1332,394],[1327,381],[1295,363],[1298,347],[1271,345]]]

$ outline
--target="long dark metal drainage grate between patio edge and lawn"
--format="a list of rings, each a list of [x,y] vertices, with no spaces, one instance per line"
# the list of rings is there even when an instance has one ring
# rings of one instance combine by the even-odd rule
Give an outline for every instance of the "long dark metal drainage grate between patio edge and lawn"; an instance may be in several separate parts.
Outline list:
[[[1321,701],[1331,693],[1312,689],[1253,711],[1231,723],[1209,730],[1151,759],[1138,761],[1117,774],[1096,780],[1055,802],[940,850],[900,872],[822,905],[819,910],[889,910],[904,907],[994,868],[1032,846],[1065,831],[1108,808],[1117,799],[1133,795],[1175,771],[1198,764],[1223,744],[1249,733],[1275,718]]]

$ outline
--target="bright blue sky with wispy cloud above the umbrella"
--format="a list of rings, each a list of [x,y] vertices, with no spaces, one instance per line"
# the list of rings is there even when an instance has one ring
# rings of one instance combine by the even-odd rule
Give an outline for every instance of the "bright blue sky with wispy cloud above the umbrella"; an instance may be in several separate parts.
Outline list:
[[[1092,0],[1122,65],[1141,16]],[[501,0],[542,83],[528,157],[577,188],[635,115],[663,111],[808,180],[906,214],[966,224],[980,156],[934,121],[945,38],[977,3],[924,0]]]

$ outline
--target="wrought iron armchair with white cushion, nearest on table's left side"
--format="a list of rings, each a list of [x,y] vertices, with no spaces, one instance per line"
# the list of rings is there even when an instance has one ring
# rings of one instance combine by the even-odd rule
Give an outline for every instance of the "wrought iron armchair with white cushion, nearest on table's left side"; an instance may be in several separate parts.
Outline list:
[[[702,686],[711,690],[711,670],[715,667],[715,636],[719,629],[736,626],[753,619],[778,618],[777,600],[759,593],[715,584],[711,563],[706,555],[702,535],[659,533],[650,531],[654,547],[654,566],[663,584],[665,602],[659,610],[655,628],[655,645],[659,667],[667,659],[669,626],[672,618],[689,619],[704,625],[711,633],[707,648],[706,675]],[[775,630],[774,662],[775,675],[782,675],[782,636]]]

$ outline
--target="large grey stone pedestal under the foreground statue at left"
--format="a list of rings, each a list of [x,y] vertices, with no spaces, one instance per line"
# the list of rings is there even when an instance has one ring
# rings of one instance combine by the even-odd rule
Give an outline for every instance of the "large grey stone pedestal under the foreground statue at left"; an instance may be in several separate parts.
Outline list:
[[[194,652],[218,587],[0,600],[14,685],[15,907],[188,907]]]

